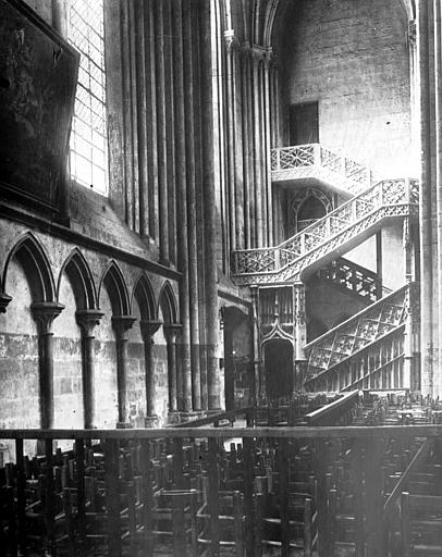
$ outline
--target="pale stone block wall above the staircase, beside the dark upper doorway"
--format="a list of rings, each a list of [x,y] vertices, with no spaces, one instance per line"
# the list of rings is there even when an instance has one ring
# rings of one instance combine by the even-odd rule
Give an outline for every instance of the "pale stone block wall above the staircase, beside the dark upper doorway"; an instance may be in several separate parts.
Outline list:
[[[386,177],[408,174],[409,61],[400,0],[299,0],[285,29],[286,97],[290,104],[319,102],[319,140]]]

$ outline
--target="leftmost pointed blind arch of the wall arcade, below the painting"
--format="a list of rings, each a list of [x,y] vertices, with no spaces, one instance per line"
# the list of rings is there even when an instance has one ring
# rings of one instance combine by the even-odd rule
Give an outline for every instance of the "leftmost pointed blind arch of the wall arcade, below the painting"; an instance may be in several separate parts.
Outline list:
[[[29,281],[34,301],[54,301],[56,285],[49,259],[38,239],[27,232],[8,255],[3,269],[2,290],[8,289],[8,271],[10,263],[16,259],[23,267]]]

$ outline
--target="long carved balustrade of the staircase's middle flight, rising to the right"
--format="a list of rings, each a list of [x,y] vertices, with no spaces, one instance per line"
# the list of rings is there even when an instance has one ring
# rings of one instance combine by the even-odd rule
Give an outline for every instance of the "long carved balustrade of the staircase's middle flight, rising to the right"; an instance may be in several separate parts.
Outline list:
[[[300,280],[310,265],[319,268],[335,259],[384,220],[417,216],[418,211],[417,180],[379,182],[279,246],[233,251],[232,275],[242,285]]]

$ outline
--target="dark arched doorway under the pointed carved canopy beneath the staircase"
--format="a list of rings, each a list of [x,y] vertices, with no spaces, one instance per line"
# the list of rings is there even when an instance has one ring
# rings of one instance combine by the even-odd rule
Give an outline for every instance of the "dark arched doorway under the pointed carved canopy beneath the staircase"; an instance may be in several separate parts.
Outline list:
[[[290,341],[273,338],[263,346],[267,396],[287,397],[293,392],[293,346]]]

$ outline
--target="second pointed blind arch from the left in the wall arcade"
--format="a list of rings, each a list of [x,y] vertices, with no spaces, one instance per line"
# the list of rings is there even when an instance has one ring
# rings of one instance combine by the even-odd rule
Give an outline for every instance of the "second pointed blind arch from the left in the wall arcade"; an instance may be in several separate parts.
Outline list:
[[[71,251],[61,268],[57,283],[57,299],[59,298],[60,284],[64,272],[71,281],[77,308],[96,309],[97,289],[94,277],[84,255],[78,248]]]

